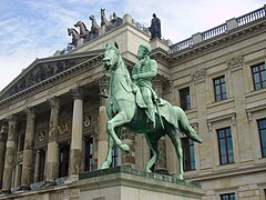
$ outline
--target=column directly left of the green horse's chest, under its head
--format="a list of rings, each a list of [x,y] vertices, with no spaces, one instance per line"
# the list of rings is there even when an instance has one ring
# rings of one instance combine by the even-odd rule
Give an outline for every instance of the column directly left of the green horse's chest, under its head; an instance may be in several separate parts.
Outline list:
[[[106,97],[109,96],[109,78],[103,76],[98,81],[100,89],[100,107],[98,114],[98,168],[105,161],[108,154],[108,133],[106,133]]]

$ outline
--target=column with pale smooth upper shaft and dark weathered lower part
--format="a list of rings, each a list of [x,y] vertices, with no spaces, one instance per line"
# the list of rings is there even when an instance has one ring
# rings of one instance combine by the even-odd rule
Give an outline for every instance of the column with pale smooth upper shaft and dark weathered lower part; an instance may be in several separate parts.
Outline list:
[[[80,88],[71,89],[74,99],[72,136],[70,150],[70,178],[78,178],[81,169],[82,128],[83,128],[83,96]]]

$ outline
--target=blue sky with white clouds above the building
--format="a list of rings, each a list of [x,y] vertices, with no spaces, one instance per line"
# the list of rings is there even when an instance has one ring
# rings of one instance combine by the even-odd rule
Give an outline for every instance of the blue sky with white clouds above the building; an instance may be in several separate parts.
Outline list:
[[[71,42],[66,29],[79,20],[91,27],[100,9],[151,26],[161,19],[162,37],[173,43],[264,7],[265,0],[0,0],[0,90],[37,58],[51,57]]]

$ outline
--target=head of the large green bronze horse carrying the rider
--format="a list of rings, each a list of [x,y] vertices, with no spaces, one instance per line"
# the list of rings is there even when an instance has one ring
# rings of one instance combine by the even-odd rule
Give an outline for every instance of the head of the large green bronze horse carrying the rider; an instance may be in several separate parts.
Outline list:
[[[119,46],[116,42],[114,44],[108,43],[105,47],[104,58],[102,60],[103,68],[105,70],[115,70],[117,68],[120,58]]]

